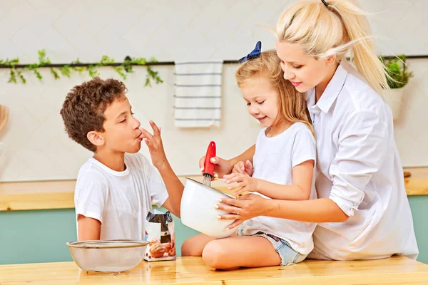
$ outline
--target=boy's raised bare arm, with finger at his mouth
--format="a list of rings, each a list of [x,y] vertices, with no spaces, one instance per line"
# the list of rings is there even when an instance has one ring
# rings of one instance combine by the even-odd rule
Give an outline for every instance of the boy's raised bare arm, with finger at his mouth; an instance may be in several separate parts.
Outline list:
[[[141,128],[141,137],[146,142],[152,163],[161,174],[166,190],[168,191],[169,197],[163,203],[163,207],[175,214],[175,216],[180,217],[181,196],[183,195],[184,186],[177,175],[175,175],[166,158],[165,150],[163,150],[161,130],[153,121],[150,121],[150,125],[153,129],[153,135]]]

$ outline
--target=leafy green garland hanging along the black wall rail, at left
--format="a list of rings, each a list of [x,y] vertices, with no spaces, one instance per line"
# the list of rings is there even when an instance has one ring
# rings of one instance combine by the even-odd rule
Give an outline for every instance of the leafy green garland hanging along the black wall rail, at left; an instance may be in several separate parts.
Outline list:
[[[3,68],[10,68],[9,72],[9,83],[26,83],[26,78],[24,77],[23,71],[32,71],[34,75],[41,81],[43,76],[39,72],[39,68],[49,68],[52,76],[55,79],[61,78],[61,76],[65,76],[70,78],[72,75],[72,71],[76,71],[78,73],[82,73],[83,71],[88,72],[88,75],[91,77],[98,76],[98,68],[103,66],[110,66],[113,68],[116,73],[118,73],[123,80],[127,78],[126,73],[133,73],[133,66],[146,66],[147,74],[146,74],[146,83],[145,86],[152,86],[152,81],[155,81],[156,84],[163,83],[161,76],[159,76],[158,71],[153,71],[148,63],[156,63],[158,62],[156,58],[151,58],[149,61],[146,61],[146,58],[130,58],[126,57],[123,63],[115,63],[113,58],[108,56],[102,56],[101,61],[97,63],[85,64],[81,63],[78,58],[76,61],[72,63],[64,63],[64,64],[52,64],[51,60],[46,56],[46,51],[44,49],[39,50],[39,63],[32,63],[28,65],[20,65],[19,58],[9,58],[0,59],[0,66]],[[60,76],[61,74],[61,76]]]

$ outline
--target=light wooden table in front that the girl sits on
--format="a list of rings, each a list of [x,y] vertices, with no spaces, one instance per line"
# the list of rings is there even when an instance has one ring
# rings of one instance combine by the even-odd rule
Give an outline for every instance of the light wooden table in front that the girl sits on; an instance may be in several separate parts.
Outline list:
[[[73,262],[0,266],[0,284],[428,284],[428,265],[407,259],[305,260],[293,266],[215,271],[200,257],[143,261],[118,275],[86,273]]]

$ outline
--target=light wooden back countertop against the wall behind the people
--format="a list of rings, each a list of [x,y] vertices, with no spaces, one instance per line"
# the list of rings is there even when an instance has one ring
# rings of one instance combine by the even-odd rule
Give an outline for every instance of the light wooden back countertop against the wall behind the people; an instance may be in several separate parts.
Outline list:
[[[405,170],[412,175],[404,179],[407,195],[428,195],[428,167]],[[201,176],[190,178],[201,180]],[[185,177],[180,180],[185,182]],[[0,183],[0,211],[73,208],[75,185],[76,180]]]

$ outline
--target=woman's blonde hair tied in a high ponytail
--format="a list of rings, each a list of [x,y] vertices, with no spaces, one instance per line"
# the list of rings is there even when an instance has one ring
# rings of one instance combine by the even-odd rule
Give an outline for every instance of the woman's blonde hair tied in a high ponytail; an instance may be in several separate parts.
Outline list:
[[[277,21],[277,38],[298,43],[308,56],[341,61],[350,51],[355,67],[382,95],[389,89],[387,72],[374,51],[366,13],[353,0],[300,0],[291,4]]]

